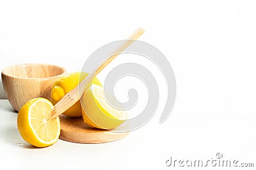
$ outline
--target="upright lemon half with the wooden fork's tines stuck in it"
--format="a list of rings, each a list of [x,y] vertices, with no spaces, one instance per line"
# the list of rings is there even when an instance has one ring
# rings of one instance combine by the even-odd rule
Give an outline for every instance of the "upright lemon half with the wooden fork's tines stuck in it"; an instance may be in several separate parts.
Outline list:
[[[17,126],[22,138],[33,146],[50,146],[60,136],[59,117],[49,120],[53,105],[44,98],[28,101],[18,113]]]

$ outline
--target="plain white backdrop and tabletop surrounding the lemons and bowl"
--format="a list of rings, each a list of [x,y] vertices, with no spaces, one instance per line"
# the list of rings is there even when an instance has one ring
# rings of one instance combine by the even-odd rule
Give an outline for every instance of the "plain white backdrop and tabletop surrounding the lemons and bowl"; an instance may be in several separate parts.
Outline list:
[[[147,125],[120,141],[58,141],[33,150],[17,145],[22,139],[16,113],[10,113],[1,124],[0,166],[172,169],[165,166],[171,156],[207,160],[217,152],[256,166],[255,1],[1,0],[0,69],[44,62],[80,71],[94,50],[137,27],[146,31],[140,40],[159,48],[175,72],[177,99],[168,120],[158,124],[161,106]]]

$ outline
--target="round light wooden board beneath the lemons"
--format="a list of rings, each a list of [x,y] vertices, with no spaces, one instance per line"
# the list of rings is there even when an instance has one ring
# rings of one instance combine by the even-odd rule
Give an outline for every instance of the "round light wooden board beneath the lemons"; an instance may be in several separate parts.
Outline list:
[[[73,143],[106,143],[127,136],[128,132],[118,133],[88,127],[83,118],[70,118],[60,115],[60,139]]]

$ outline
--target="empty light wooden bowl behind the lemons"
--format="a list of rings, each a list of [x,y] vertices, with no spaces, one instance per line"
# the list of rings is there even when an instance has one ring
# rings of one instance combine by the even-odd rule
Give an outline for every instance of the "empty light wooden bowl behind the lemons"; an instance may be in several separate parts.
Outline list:
[[[66,69],[51,64],[20,64],[2,71],[4,92],[16,111],[30,99],[44,97],[51,101],[54,81]]]

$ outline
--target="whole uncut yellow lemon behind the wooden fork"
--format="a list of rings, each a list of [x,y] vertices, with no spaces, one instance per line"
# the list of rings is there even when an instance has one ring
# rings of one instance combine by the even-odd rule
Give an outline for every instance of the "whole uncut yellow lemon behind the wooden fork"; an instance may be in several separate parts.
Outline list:
[[[89,73],[84,72],[75,72],[68,73],[62,76],[59,80],[57,80],[51,90],[51,98],[52,103],[56,104],[60,99],[65,96],[68,92],[73,90],[77,85],[88,76]],[[93,83],[97,85],[101,85],[100,81],[97,78],[93,79]],[[82,117],[81,104],[77,101],[71,108],[63,113],[68,117]]]

